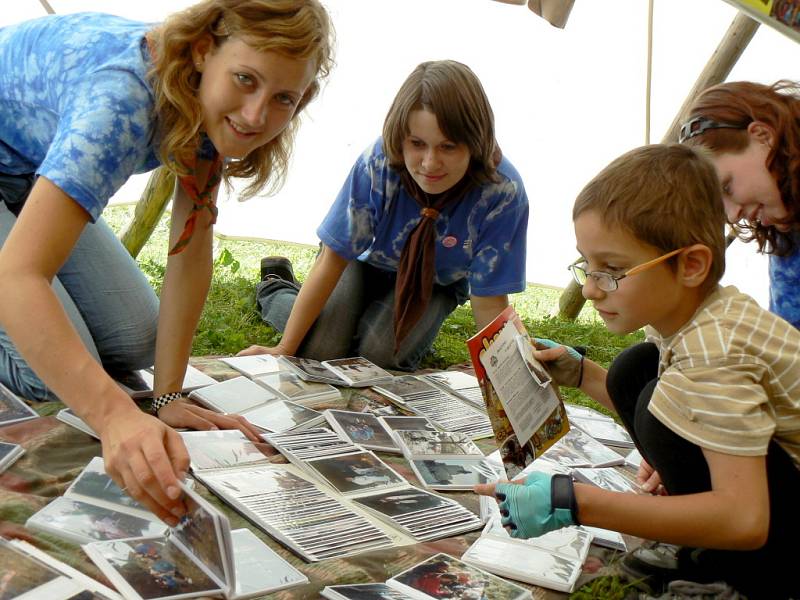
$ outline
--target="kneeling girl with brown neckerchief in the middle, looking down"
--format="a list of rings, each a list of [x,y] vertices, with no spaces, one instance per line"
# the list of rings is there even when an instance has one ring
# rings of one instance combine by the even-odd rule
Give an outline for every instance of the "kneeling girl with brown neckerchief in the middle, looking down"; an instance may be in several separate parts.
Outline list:
[[[456,61],[424,62],[317,229],[302,289],[286,259],[262,261],[261,316],[283,337],[243,353],[360,355],[413,371],[459,304],[470,300],[480,328],[525,289],[527,227],[525,187],[480,80]]]

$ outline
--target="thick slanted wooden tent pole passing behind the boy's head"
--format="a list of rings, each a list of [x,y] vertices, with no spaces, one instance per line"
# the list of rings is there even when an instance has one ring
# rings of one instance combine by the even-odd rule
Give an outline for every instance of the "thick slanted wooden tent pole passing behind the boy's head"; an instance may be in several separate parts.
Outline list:
[[[747,44],[753,39],[758,25],[758,21],[751,19],[745,13],[737,13],[719,46],[717,46],[714,54],[711,55],[689,95],[675,115],[672,125],[670,125],[662,139],[663,143],[678,141],[678,130],[685,116],[684,113],[700,92],[709,86],[725,81]],[[575,281],[570,281],[558,300],[558,316],[563,319],[574,320],[585,302],[580,286]]]

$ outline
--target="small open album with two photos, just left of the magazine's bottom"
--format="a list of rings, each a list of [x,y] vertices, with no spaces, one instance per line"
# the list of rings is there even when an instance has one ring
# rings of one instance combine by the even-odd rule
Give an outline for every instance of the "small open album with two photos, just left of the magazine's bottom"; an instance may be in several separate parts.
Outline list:
[[[422,485],[434,490],[471,490],[479,483],[505,475],[486,460],[465,434],[444,431],[395,431],[403,451]]]

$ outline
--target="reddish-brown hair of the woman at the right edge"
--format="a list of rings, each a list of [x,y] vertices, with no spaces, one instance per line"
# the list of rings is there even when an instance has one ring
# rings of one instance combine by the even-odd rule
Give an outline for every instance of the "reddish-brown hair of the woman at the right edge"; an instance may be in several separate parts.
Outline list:
[[[792,222],[800,222],[800,86],[781,80],[772,85],[749,81],[722,83],[703,91],[692,104],[685,120],[706,117],[731,128],[706,129],[685,143],[708,148],[712,154],[738,153],[750,143],[747,126],[760,121],[775,132],[767,156],[767,168],[777,182]],[[791,233],[761,223],[736,223],[742,238],[756,240],[759,250],[785,255],[793,249]]]

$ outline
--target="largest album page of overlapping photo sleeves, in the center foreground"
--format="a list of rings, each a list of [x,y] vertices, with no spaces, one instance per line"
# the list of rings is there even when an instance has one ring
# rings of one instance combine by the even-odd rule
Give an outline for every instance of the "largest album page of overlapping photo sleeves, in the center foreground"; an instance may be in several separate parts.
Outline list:
[[[301,477],[292,465],[263,465],[196,477],[309,562],[394,545],[381,529]]]

